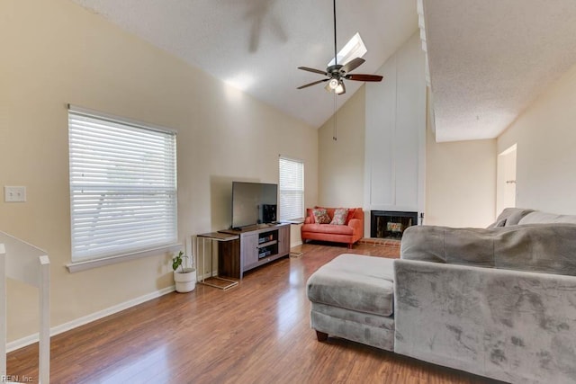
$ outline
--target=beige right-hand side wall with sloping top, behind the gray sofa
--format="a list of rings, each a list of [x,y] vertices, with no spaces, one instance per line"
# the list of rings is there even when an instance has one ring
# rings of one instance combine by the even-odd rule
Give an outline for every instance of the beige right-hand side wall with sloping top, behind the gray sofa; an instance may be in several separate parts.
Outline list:
[[[498,138],[498,153],[518,143],[517,207],[576,214],[576,66],[561,76]]]

